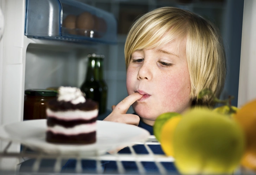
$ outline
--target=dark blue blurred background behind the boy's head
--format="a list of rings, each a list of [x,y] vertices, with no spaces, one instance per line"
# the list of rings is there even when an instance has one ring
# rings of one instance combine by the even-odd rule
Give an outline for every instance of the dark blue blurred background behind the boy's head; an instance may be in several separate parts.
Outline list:
[[[129,27],[138,16],[149,10],[174,6],[195,12],[213,22],[220,30],[223,37],[227,59],[227,75],[223,93],[220,98],[226,99],[234,96],[232,105],[238,104],[238,84],[241,55],[241,38],[243,22],[243,0],[193,0],[191,3],[175,0],[142,0],[142,1],[109,1],[109,0],[79,0],[97,8],[113,13],[118,20],[118,43],[103,49],[105,59],[105,79],[109,88],[108,108],[121,102],[127,97],[126,68],[124,62],[124,44]],[[112,91],[113,90],[113,91]],[[133,113],[132,107],[128,113]]]

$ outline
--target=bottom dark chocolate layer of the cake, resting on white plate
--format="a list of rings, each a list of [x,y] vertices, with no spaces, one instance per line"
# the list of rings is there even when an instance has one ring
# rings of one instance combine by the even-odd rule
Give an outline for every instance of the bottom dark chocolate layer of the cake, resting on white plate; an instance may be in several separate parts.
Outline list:
[[[46,141],[57,144],[92,144],[96,142],[96,131],[78,135],[54,134],[47,131]]]

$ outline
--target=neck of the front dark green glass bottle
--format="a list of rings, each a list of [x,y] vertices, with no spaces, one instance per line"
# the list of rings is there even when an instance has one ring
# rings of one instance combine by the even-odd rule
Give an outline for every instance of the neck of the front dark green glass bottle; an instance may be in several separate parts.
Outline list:
[[[87,66],[87,75],[86,81],[95,81],[99,80],[99,70],[97,66],[96,58],[89,58],[88,66]]]

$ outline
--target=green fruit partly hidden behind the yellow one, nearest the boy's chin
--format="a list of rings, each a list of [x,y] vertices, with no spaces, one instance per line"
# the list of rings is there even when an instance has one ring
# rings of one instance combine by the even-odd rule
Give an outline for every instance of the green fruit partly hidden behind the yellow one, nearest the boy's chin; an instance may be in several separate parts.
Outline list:
[[[155,135],[155,138],[159,142],[161,140],[162,126],[166,123],[167,120],[171,119],[174,116],[180,116],[180,114],[177,112],[167,112],[167,113],[161,114],[156,118],[155,123],[153,125],[153,133]]]

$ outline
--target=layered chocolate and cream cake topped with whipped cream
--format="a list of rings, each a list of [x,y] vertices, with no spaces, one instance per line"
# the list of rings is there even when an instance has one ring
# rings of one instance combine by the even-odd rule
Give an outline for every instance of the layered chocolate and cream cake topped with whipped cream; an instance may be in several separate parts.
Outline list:
[[[46,109],[46,141],[65,144],[91,144],[96,141],[98,104],[85,99],[76,87],[60,87],[58,98]]]

